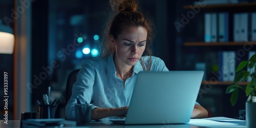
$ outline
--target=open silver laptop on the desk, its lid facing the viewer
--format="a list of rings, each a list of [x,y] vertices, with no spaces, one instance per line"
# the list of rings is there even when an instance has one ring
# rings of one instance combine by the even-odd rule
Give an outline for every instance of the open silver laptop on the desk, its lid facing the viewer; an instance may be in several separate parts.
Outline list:
[[[139,72],[122,124],[183,124],[190,120],[203,71]]]

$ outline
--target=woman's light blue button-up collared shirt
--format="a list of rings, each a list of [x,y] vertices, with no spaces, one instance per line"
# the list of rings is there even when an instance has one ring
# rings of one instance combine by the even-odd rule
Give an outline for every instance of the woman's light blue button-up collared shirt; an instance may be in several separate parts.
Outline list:
[[[83,60],[72,96],[66,105],[67,119],[75,120],[77,96],[81,103],[92,103],[92,109],[129,106],[137,75],[140,71],[147,71],[149,65],[150,56],[142,56],[134,66],[132,76],[125,80],[124,86],[123,80],[116,75],[113,55]],[[151,71],[169,70],[163,60],[152,56]]]

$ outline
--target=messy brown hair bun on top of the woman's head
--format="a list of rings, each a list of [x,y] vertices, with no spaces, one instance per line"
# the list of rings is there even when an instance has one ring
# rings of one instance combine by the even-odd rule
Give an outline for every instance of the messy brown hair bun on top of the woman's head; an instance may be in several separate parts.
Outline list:
[[[113,10],[117,12],[130,12],[138,9],[138,4],[135,0],[110,0]]]

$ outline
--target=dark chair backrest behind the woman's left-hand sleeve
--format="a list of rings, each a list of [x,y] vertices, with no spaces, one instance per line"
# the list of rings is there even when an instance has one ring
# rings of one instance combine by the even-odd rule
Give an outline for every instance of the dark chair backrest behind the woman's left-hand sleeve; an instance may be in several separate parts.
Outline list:
[[[66,104],[68,103],[71,95],[72,95],[72,87],[73,84],[76,82],[76,75],[80,69],[76,69],[69,74],[66,86]]]

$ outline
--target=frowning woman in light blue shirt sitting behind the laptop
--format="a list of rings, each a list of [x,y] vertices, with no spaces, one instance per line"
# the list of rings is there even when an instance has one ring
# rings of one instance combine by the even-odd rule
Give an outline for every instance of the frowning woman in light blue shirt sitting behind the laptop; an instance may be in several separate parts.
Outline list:
[[[69,120],[75,120],[76,96],[82,103],[93,104],[94,120],[124,117],[138,72],[168,71],[164,62],[151,54],[151,21],[138,11],[135,0],[118,2],[110,2],[117,14],[106,26],[103,56],[82,61],[66,106]],[[196,102],[191,118],[203,117],[207,111]]]

